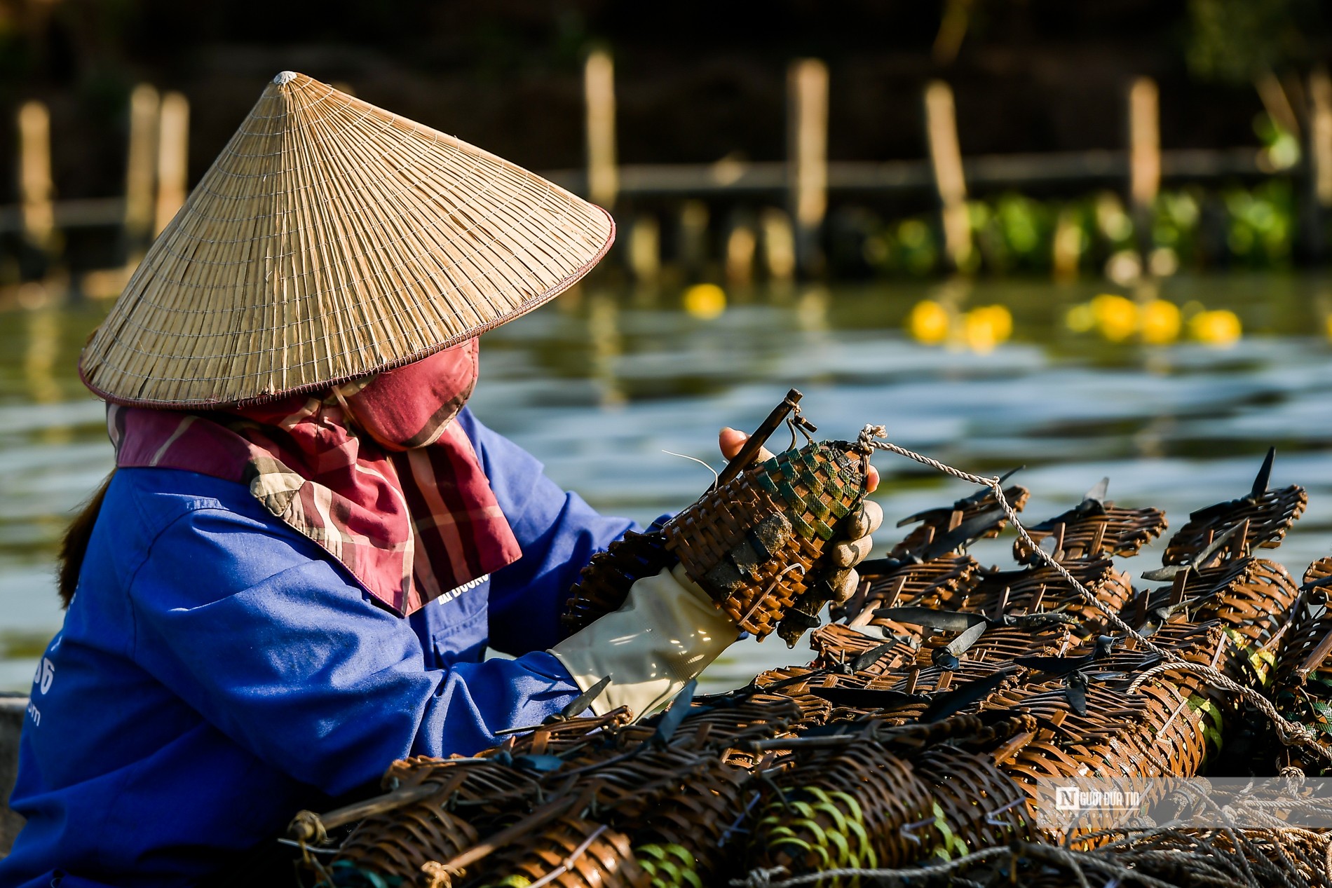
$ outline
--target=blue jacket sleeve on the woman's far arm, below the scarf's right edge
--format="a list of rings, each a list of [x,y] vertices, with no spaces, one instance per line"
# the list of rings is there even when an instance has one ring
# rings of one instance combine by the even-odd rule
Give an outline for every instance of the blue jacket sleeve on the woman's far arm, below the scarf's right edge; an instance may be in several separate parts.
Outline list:
[[[481,425],[470,410],[458,421],[490,478],[522,558],[490,578],[490,647],[519,655],[553,647],[569,587],[593,554],[634,530],[607,518],[543,474],[535,457]]]

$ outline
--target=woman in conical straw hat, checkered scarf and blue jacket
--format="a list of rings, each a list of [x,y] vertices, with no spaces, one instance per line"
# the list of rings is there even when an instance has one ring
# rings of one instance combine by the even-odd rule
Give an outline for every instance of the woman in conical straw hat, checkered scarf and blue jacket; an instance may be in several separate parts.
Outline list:
[[[465,407],[477,335],[613,237],[513,164],[274,79],[80,358],[117,470],[65,541],[0,887],[254,884],[296,811],[394,759],[476,752],[605,675],[594,711],[651,710],[737,638],[679,571],[561,638],[631,525]]]

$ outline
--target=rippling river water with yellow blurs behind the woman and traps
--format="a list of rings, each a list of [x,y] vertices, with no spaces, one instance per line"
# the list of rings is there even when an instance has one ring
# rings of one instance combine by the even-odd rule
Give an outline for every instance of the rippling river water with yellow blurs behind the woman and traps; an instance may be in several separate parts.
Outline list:
[[[1098,300],[1112,293],[1119,300]],[[998,308],[995,308],[998,306]],[[75,373],[105,306],[0,314],[0,690],[25,690],[59,628],[53,558],[71,510],[111,467],[101,403]],[[1039,521],[1108,475],[1111,499],[1188,511],[1273,485],[1309,509],[1275,556],[1332,554],[1332,282],[1297,276],[1103,282],[872,284],[614,290],[587,285],[484,339],[473,407],[598,509],[642,522],[687,505],[719,466],[723,425],[751,429],[789,387],[819,437],[867,422],[980,474],[1027,469]],[[1146,339],[1146,341],[1144,341]],[[970,493],[879,454],[895,519]],[[976,547],[1008,563],[1011,535]],[[1134,572],[1159,563],[1160,546]],[[1148,563],[1150,562],[1150,563]],[[735,646],[713,688],[806,662],[774,636]]]

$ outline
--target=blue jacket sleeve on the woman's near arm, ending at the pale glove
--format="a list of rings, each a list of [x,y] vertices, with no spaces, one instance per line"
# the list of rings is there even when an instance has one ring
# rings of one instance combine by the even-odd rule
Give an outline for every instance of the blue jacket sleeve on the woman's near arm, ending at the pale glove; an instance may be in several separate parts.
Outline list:
[[[578,688],[547,654],[426,670],[406,620],[313,543],[226,509],[169,525],[129,586],[133,656],[261,760],[341,795],[394,759],[472,754]]]

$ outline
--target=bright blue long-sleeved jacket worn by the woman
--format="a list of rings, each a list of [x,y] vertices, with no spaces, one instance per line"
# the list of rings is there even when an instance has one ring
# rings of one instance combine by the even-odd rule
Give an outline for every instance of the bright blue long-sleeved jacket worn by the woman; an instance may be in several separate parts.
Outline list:
[[[190,884],[394,759],[476,752],[578,694],[545,648],[578,570],[631,525],[457,421],[522,558],[410,619],[240,485],[116,474],[33,679],[0,888]]]

